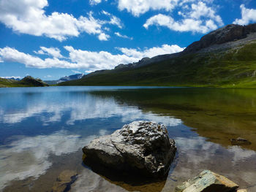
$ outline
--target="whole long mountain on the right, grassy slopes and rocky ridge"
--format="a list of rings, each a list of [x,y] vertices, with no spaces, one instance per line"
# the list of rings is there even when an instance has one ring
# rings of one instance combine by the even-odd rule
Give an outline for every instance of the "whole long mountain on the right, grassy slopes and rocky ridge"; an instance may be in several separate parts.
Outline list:
[[[59,85],[167,85],[256,88],[256,23],[228,25],[181,53],[120,64]]]

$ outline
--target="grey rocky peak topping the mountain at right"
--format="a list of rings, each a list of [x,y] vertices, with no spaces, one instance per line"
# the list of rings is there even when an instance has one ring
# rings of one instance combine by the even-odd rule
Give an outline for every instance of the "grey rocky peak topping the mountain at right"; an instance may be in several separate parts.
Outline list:
[[[235,24],[227,25],[206,34],[200,39],[200,41],[193,42],[184,50],[184,53],[194,53],[197,50],[201,50],[211,45],[219,45],[225,42],[233,42],[238,39],[244,39],[248,34],[255,32],[256,23],[248,26],[240,26]]]

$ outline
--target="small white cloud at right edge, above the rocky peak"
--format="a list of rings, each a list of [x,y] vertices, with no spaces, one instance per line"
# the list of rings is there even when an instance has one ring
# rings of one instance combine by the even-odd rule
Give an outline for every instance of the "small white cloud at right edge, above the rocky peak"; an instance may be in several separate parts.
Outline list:
[[[238,25],[247,25],[249,22],[256,22],[256,9],[247,9],[241,4],[241,19],[236,19],[233,23]]]

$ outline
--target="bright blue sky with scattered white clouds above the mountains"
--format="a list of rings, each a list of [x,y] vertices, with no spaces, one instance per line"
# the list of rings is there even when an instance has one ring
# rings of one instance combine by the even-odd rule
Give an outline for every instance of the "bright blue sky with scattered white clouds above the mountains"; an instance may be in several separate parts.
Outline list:
[[[232,23],[256,23],[256,0],[0,0],[0,77],[113,69]]]

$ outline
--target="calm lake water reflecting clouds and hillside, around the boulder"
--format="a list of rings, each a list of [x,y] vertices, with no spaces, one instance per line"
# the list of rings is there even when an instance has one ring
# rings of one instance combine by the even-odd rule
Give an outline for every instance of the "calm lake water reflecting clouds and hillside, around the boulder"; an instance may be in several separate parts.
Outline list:
[[[134,120],[164,123],[178,153],[166,180],[110,180],[83,165],[81,148]],[[243,137],[252,145],[234,146]],[[204,169],[256,191],[256,90],[214,88],[0,88],[0,191],[173,191]],[[132,177],[132,176],[131,176]]]

